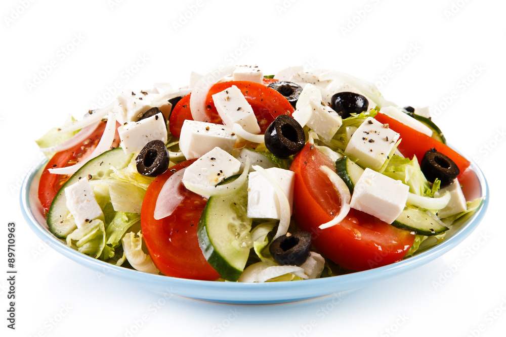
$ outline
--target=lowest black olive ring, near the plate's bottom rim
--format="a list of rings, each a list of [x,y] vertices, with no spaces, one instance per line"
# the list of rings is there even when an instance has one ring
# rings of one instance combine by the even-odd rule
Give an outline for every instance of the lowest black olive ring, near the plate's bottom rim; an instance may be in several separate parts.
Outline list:
[[[281,235],[271,243],[269,252],[281,266],[300,266],[306,262],[311,252],[311,234],[299,230],[291,235]]]

